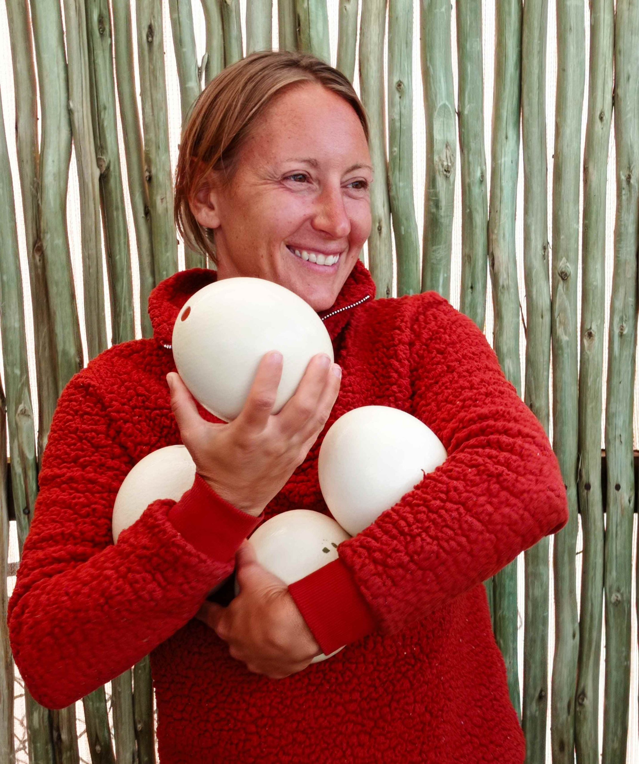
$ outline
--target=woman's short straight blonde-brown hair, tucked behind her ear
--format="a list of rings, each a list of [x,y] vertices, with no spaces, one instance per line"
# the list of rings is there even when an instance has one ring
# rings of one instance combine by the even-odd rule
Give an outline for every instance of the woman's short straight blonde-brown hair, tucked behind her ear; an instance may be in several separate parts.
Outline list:
[[[264,50],[227,66],[193,104],[184,127],[175,176],[174,217],[187,246],[216,263],[212,231],[197,222],[189,199],[212,171],[229,186],[242,146],[264,109],[284,88],[319,83],[355,109],[368,142],[368,119],[355,89],[339,70],[309,53]]]

